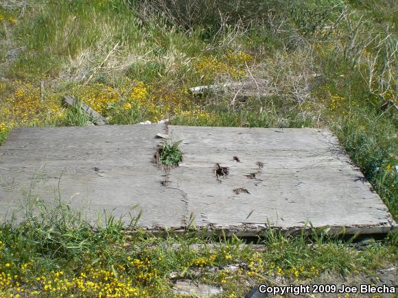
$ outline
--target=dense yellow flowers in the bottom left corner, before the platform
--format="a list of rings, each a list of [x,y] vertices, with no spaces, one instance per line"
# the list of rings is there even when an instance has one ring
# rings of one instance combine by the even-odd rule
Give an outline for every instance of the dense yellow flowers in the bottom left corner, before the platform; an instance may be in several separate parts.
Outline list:
[[[0,297],[17,294],[24,297],[146,297],[148,290],[159,295],[169,292],[167,282],[159,283],[164,278],[160,272],[163,256],[161,253],[152,256],[156,248],[152,251],[143,249],[140,256],[128,256],[112,269],[104,268],[102,262],[95,266],[88,262],[84,269],[75,273],[60,269],[38,273],[33,262],[1,263],[3,247],[0,242]]]

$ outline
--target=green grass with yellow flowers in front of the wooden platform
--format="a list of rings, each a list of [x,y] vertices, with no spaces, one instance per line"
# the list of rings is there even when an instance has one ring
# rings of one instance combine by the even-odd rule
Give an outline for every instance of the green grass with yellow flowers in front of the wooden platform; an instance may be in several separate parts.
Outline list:
[[[84,214],[58,200],[50,206],[36,199],[24,207],[22,222],[1,224],[4,295],[97,296],[121,291],[122,296],[167,296],[172,295],[172,279],[183,278],[220,284],[224,297],[242,297],[248,290],[242,287],[246,280],[279,275],[311,282],[326,272],[372,274],[397,262],[393,236],[357,250],[325,234],[307,238],[268,232],[258,239],[263,251],[255,252],[238,238],[201,236],[194,230],[164,238],[147,237],[140,230],[128,234],[124,223],[110,214],[100,214],[93,226]],[[132,218],[130,225],[135,223]],[[226,270],[230,264],[240,264],[239,271]]]

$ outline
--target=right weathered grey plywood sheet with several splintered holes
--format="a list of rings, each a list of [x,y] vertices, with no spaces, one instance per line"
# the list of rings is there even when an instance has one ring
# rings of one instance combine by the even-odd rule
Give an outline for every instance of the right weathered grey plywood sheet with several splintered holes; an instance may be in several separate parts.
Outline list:
[[[195,214],[198,226],[392,223],[384,203],[326,130],[170,126],[169,135],[183,140],[184,153],[170,186],[183,191],[187,214]],[[215,164],[228,167],[229,174],[217,179]],[[255,179],[249,179],[253,173]],[[237,195],[237,188],[248,193]]]

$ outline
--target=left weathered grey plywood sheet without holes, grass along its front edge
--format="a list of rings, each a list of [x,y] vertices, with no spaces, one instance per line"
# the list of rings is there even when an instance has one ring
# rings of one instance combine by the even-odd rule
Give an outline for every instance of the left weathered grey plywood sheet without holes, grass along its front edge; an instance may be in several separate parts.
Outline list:
[[[27,193],[54,200],[59,185],[62,200],[93,220],[95,212],[118,217],[138,204],[133,214],[144,211],[142,225],[182,225],[180,192],[161,186],[164,173],[153,164],[162,131],[162,125],[15,129],[0,147],[0,214],[18,209]]]

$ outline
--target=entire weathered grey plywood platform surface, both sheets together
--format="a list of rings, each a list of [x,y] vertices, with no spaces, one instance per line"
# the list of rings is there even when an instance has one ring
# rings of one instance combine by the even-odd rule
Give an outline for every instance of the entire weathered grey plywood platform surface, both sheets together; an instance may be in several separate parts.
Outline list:
[[[242,236],[309,222],[352,233],[395,226],[325,130],[169,126],[169,138],[183,140],[184,160],[168,173],[154,165],[158,134],[164,125],[15,129],[0,147],[0,216],[27,197],[51,202],[60,194],[93,221],[103,210],[142,210],[139,225],[153,231],[180,231],[191,214],[197,227]],[[229,174],[217,177],[215,164]]]

